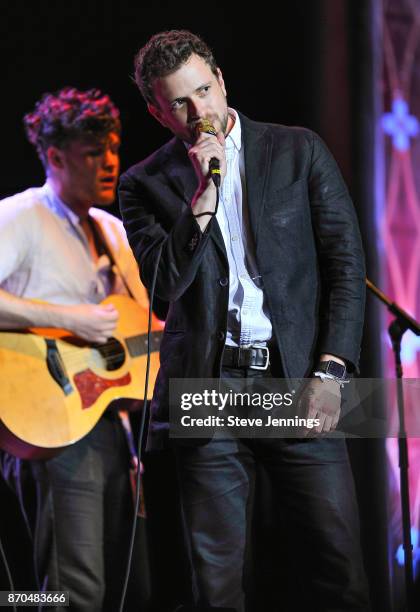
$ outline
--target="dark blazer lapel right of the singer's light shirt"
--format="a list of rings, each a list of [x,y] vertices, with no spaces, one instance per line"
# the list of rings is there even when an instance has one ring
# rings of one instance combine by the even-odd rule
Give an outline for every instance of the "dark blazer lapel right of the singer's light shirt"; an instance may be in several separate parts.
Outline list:
[[[245,156],[245,181],[251,229],[258,244],[258,230],[263,214],[264,191],[271,163],[272,140],[265,126],[240,114]]]

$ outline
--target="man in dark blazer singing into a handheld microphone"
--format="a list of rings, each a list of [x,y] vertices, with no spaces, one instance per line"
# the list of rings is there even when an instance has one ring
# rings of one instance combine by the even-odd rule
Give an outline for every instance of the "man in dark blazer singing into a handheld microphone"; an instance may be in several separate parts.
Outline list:
[[[149,112],[175,136],[120,183],[142,279],[150,290],[157,266],[156,295],[170,303],[152,448],[165,444],[170,378],[309,377],[301,409],[319,420],[318,432],[332,431],[359,357],[365,277],[334,160],[309,130],[229,108],[210,49],[190,32],[153,36],[135,77]],[[218,207],[210,166],[216,176],[220,169]],[[328,410],[320,401],[327,387],[336,398]],[[279,521],[304,553],[292,609],[369,610],[343,440],[189,442],[174,448],[198,610],[262,609],[258,598],[251,606],[244,579],[260,465]]]

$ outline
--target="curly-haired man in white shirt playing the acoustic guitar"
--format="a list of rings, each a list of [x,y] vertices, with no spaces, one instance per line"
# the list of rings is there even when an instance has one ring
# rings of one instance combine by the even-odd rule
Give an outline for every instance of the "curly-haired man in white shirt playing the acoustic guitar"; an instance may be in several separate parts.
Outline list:
[[[121,222],[92,208],[115,199],[119,111],[98,90],[65,88],[44,95],[24,123],[46,183],[0,202],[0,329],[60,328],[104,345],[119,318],[112,300],[101,304],[107,296],[129,289],[148,308]],[[25,387],[21,378],[16,386]],[[13,397],[8,408],[22,410]],[[54,430],[51,414],[44,427]],[[19,474],[20,460],[5,458]],[[38,496],[39,588],[69,591],[71,610],[118,609],[132,517],[129,463],[118,412],[106,411],[57,456],[24,464]]]

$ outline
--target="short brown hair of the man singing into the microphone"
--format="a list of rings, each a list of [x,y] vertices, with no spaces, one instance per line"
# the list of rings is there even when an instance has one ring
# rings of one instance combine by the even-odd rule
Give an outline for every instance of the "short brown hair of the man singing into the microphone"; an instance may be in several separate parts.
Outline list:
[[[156,104],[153,92],[155,79],[172,74],[195,53],[217,76],[217,64],[211,49],[188,30],[159,32],[138,51],[134,58],[134,78],[143,98]]]

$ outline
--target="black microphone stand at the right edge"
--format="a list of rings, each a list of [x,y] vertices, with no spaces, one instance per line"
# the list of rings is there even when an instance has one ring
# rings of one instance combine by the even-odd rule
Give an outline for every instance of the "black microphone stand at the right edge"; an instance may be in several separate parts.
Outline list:
[[[405,431],[405,411],[403,393],[403,368],[401,363],[401,340],[407,329],[410,329],[416,336],[420,336],[420,325],[413,317],[392,302],[382,291],[378,289],[368,278],[366,279],[368,289],[383,302],[395,319],[388,327],[388,334],[392,342],[392,350],[395,358],[395,373],[397,378],[397,403],[398,403],[398,455],[400,468],[400,495],[401,495],[401,514],[403,528],[403,549],[404,549],[404,569],[405,569],[405,590],[407,597],[407,611],[413,610],[413,546],[411,543],[411,518],[410,518],[410,491],[408,483],[408,446],[407,432]]]

